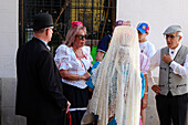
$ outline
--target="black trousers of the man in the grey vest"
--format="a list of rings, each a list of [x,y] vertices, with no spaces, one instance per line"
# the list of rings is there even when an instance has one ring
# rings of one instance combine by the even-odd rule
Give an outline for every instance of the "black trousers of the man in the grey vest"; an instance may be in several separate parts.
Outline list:
[[[160,125],[186,125],[187,94],[173,96],[171,92],[165,95],[156,95],[157,112]]]

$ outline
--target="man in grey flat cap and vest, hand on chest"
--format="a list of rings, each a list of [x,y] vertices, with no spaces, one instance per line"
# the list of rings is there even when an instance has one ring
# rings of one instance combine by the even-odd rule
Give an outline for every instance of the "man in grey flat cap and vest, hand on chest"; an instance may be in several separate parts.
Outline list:
[[[152,90],[156,93],[160,125],[171,125],[171,122],[174,125],[186,125],[188,48],[180,43],[182,32],[179,25],[170,25],[164,35],[167,46],[150,59],[149,71],[159,66],[159,83],[153,84]]]

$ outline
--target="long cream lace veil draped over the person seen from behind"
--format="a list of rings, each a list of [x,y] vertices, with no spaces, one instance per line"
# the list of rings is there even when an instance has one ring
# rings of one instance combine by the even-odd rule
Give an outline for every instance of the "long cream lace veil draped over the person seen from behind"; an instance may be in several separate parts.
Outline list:
[[[93,70],[95,86],[90,113],[98,115],[98,125],[107,125],[115,115],[118,125],[138,125],[142,80],[137,31],[117,27],[109,49]]]

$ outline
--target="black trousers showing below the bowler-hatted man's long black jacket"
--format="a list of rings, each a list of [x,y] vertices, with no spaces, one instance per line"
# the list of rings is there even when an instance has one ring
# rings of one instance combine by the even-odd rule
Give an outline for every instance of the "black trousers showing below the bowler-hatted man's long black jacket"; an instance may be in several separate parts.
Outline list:
[[[63,118],[48,122],[27,118],[27,125],[63,125],[63,124],[64,124]]]

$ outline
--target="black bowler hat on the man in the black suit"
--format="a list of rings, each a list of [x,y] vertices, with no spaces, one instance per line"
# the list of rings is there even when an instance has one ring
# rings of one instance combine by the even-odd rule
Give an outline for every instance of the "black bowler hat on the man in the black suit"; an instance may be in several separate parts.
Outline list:
[[[53,27],[53,18],[49,13],[39,13],[33,19],[33,30]]]

